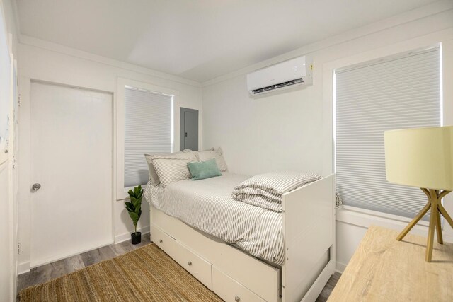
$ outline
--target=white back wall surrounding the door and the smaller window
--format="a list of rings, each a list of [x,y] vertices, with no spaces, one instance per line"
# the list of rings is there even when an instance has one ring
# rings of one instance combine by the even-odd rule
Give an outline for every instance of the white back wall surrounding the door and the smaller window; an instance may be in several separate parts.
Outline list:
[[[21,73],[20,93],[22,96],[21,115],[19,117],[21,122],[21,150],[19,153],[21,169],[19,241],[21,243],[21,254],[19,255],[19,262],[21,272],[25,272],[29,269],[30,261],[29,209],[30,185],[32,184],[30,180],[30,80],[108,91],[113,93],[114,102],[120,101],[117,100],[118,77],[170,88],[179,92],[178,103],[181,107],[200,110],[200,138],[202,137],[202,90],[200,84],[194,81],[124,62],[117,62],[31,37],[21,37],[21,44],[19,44],[18,49],[22,58],[19,64]],[[176,110],[179,112],[179,108],[176,108]],[[179,127],[176,129],[178,131]],[[114,163],[114,168],[115,165],[116,163]],[[118,173],[122,173],[122,171],[118,171]],[[113,175],[113,182],[115,182],[115,175]],[[115,192],[115,187],[113,187],[113,190]],[[138,228],[142,231],[148,231],[149,206],[146,202],[143,203],[142,209],[142,218],[139,221]],[[114,234],[112,240],[119,242],[130,239],[133,225],[124,209],[122,200],[113,200],[113,221]]]

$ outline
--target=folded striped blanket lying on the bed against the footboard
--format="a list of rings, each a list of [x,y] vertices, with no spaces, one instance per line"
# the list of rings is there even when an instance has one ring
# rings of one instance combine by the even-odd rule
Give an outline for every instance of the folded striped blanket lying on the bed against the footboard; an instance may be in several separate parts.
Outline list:
[[[252,176],[234,187],[231,197],[257,207],[282,211],[282,194],[319,180],[314,173],[271,172]]]

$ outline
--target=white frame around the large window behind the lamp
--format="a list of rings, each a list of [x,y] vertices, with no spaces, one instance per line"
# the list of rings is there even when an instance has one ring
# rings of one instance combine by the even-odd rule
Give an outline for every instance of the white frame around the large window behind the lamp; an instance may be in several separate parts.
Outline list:
[[[321,62],[321,73],[322,73],[322,108],[323,108],[323,129],[322,129],[322,144],[325,146],[322,149],[322,165],[323,165],[323,175],[330,175],[334,173],[334,161],[335,161],[335,141],[333,137],[334,133],[334,123],[335,123],[335,104],[333,103],[333,97],[335,94],[334,91],[334,78],[333,74],[336,69],[340,69],[346,66],[353,64],[360,64],[362,62],[369,62],[374,59],[379,59],[381,57],[387,57],[394,54],[401,54],[401,52],[410,52],[411,50],[421,49],[423,47],[432,48],[440,47],[441,49],[441,60],[442,60],[442,81],[441,81],[441,93],[442,93],[442,120],[443,124],[453,124],[453,115],[448,115],[447,112],[451,112],[453,108],[453,102],[449,101],[449,96],[453,95],[453,88],[443,85],[443,83],[449,83],[453,79],[453,72],[449,71],[447,68],[451,64],[451,55],[449,52],[453,50],[453,40],[451,40],[452,35],[429,35],[414,38],[411,40],[406,40],[401,43],[385,45],[383,47],[375,48],[363,52],[359,49],[355,54],[345,54],[343,52],[337,53],[333,57],[329,57],[326,61]],[[450,98],[451,99],[451,98]],[[364,197],[366,198],[366,197]],[[453,211],[453,196],[447,195],[444,199],[445,208],[447,211]],[[378,213],[378,212],[376,212]],[[340,215],[340,216],[338,216]],[[337,220],[340,217],[340,221],[352,224],[358,224],[363,227],[369,226],[369,221],[357,222],[355,217],[359,216],[369,216],[369,211],[356,208],[356,207],[343,207],[343,209],[337,210]],[[376,215],[374,215],[376,216]],[[379,212],[379,217],[384,219],[390,219],[390,221],[406,221],[405,217],[398,216],[396,219],[394,215],[385,214]],[[380,218],[380,219],[381,219]],[[380,221],[380,220],[379,220]],[[420,224],[423,225],[424,222]],[[444,228],[445,229],[445,228]],[[447,233],[451,233],[449,227],[447,226]],[[452,233],[453,234],[453,233]]]

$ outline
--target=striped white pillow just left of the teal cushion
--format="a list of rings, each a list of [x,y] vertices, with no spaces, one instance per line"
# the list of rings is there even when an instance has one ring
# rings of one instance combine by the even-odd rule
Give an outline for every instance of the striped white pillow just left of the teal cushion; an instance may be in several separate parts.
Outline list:
[[[185,158],[154,158],[152,163],[159,176],[161,185],[165,187],[166,185],[170,185],[171,182],[188,180],[190,178],[190,172],[187,164],[192,161],[196,160]]]

